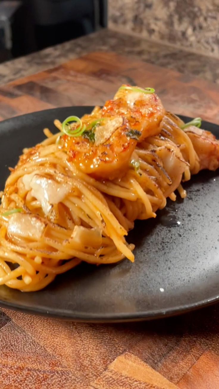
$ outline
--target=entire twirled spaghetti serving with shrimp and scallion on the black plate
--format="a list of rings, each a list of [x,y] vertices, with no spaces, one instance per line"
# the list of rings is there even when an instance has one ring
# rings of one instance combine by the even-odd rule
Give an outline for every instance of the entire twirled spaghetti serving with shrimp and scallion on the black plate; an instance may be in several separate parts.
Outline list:
[[[219,142],[200,118],[185,124],[152,88],[123,85],[103,108],[55,124],[2,192],[0,283],[22,291],[81,261],[133,261],[125,236],[134,221],[156,217],[175,191],[186,196],[182,181],[219,166]]]

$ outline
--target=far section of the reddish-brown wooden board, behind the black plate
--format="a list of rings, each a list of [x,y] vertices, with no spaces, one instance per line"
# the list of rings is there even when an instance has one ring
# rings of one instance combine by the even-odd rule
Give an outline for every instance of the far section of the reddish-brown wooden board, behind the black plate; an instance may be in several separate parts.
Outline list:
[[[153,86],[166,109],[219,123],[217,84],[114,53],[92,53],[0,88],[0,116],[102,104],[121,83]]]

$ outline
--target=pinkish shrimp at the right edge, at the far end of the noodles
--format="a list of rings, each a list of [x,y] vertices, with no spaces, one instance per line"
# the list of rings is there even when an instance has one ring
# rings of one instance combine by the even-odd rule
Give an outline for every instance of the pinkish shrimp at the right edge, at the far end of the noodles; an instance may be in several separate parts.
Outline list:
[[[198,155],[199,170],[216,170],[219,167],[219,140],[210,131],[195,126],[189,126],[184,131],[191,139],[194,150]]]

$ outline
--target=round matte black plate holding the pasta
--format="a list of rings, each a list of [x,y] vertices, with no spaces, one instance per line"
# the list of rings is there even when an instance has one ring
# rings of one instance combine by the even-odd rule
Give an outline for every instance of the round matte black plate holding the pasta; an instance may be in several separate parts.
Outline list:
[[[53,120],[82,116],[92,107],[35,112],[0,123],[0,188],[23,147],[55,131]],[[185,121],[190,118],[184,117]],[[219,126],[203,123],[219,137]],[[156,219],[137,221],[128,240],[135,263],[83,263],[46,289],[22,293],[0,287],[0,305],[77,321],[126,321],[179,314],[219,298],[219,176],[201,172],[184,184],[187,198],[168,202]]]

